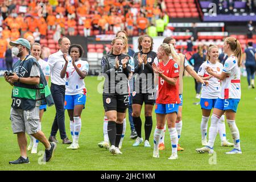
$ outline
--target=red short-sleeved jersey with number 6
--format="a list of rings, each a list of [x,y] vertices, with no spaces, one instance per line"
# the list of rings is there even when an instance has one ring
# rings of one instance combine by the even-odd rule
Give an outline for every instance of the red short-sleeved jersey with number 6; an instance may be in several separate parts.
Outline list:
[[[159,63],[159,68],[163,74],[169,78],[178,78],[175,85],[168,84],[159,76],[158,80],[158,98],[156,104],[179,104],[179,65],[172,59],[164,65],[163,61]]]

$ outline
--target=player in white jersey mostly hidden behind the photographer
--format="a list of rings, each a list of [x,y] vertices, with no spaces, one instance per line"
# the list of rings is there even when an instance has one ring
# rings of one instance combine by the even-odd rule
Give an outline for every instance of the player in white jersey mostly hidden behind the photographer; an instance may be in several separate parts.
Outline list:
[[[32,44],[31,47],[31,55],[35,57],[35,59],[38,61],[38,64],[40,65],[44,76],[46,77],[46,81],[48,82],[49,80],[49,75],[50,75],[50,69],[49,69],[49,65],[46,61],[44,61],[42,59],[42,55],[41,55],[42,51],[41,51],[41,46],[39,43],[34,43]],[[47,105],[40,105],[39,110],[39,118],[40,118],[40,122],[39,122],[39,129],[42,129],[41,126],[41,122],[42,122],[42,118],[43,118],[43,114],[44,111],[46,111],[46,106]],[[35,139],[34,137],[32,137],[32,135],[30,135],[30,144],[27,147],[27,150],[30,151],[31,150],[31,154],[37,154],[38,153],[38,143],[39,140]]]

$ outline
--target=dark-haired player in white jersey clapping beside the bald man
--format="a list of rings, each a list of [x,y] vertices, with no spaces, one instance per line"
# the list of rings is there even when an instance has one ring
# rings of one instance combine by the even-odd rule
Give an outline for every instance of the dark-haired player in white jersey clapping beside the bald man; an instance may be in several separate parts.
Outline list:
[[[79,148],[79,135],[81,131],[81,113],[86,102],[86,88],[84,78],[88,74],[89,64],[80,59],[84,51],[78,44],[72,44],[68,54],[72,57],[69,61],[64,53],[65,65],[60,72],[61,78],[66,78],[64,109],[68,110],[70,130],[73,143],[67,147],[76,150]]]

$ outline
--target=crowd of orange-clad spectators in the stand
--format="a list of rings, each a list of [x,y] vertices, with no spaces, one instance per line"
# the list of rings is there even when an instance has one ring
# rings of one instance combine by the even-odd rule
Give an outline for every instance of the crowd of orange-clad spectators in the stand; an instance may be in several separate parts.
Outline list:
[[[63,35],[77,35],[83,27],[84,36],[116,34],[126,30],[129,36],[146,34],[148,27],[168,17],[163,0],[0,0],[0,58],[10,41],[34,36],[35,42],[53,40]],[[164,18],[164,26],[168,18]],[[159,32],[160,31],[160,32]],[[170,33],[170,32],[169,32]]]

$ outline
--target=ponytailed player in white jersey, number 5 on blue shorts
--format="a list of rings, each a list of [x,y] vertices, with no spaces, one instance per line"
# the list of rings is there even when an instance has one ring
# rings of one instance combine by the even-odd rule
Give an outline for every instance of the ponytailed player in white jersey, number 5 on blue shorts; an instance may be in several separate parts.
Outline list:
[[[240,148],[240,134],[235,122],[237,106],[241,99],[239,67],[242,63],[242,49],[240,42],[233,37],[226,38],[223,51],[229,57],[225,61],[221,74],[214,73],[213,69],[210,67],[205,68],[210,75],[221,80],[222,84],[220,95],[214,105],[213,114],[210,118],[209,140],[207,146],[196,149],[199,153],[213,152],[213,144],[218,132],[218,120],[221,115],[225,113],[226,121],[228,122],[234,140],[233,150],[226,152],[226,154],[242,154]]]

